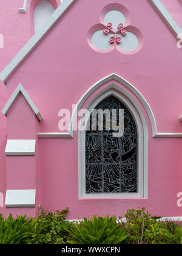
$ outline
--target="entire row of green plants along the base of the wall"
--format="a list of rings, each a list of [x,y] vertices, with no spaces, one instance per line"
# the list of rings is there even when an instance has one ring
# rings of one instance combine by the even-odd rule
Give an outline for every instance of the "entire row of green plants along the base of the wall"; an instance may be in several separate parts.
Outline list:
[[[39,207],[37,218],[0,214],[0,244],[182,244],[182,227],[175,221],[160,221],[145,208],[121,216],[93,216],[84,221],[66,221],[68,208],[52,213]]]

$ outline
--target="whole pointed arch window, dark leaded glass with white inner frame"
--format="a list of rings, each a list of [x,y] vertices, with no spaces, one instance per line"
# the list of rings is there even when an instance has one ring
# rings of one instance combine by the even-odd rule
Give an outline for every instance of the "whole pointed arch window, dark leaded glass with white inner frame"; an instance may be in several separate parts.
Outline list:
[[[111,85],[110,87],[117,87]],[[86,130],[78,130],[79,199],[85,198],[147,198],[148,130],[139,105],[122,88],[103,90],[87,105]],[[94,110],[124,110],[124,133],[107,130],[104,116],[103,130],[92,129]],[[111,125],[112,126],[112,125]],[[88,130],[89,127],[89,130]],[[114,127],[114,126],[113,126]]]

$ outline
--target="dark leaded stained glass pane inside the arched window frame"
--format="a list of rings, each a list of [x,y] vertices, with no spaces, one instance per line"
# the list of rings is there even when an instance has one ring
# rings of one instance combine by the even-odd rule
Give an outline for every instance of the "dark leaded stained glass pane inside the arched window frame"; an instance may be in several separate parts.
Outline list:
[[[107,130],[106,116],[103,130],[92,126],[86,131],[86,194],[138,193],[138,135],[132,114],[123,102],[109,96],[96,110],[124,110],[124,134],[113,137],[115,130]],[[97,122],[99,119],[97,118]]]

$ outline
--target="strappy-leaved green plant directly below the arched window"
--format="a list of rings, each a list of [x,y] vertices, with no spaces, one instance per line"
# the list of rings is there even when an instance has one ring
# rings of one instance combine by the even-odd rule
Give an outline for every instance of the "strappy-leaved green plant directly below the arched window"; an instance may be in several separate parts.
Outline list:
[[[126,230],[116,224],[116,217],[104,218],[93,216],[88,220],[84,218],[79,225],[72,229],[73,244],[119,244],[127,238]]]

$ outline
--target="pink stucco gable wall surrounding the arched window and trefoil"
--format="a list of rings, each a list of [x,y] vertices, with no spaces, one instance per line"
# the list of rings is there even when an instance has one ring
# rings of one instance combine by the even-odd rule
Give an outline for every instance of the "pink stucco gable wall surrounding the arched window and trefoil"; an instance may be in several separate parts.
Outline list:
[[[110,2],[115,1],[76,1],[7,80],[7,94],[5,86],[1,86],[0,107],[3,107],[5,99],[21,82],[44,116],[39,124],[40,132],[60,132],[59,110],[71,110],[72,104],[76,104],[95,82],[116,73],[129,80],[149,102],[158,132],[181,133],[182,124],[178,118],[182,112],[182,59],[174,34],[149,1],[138,0],[136,3],[133,0],[123,0],[122,4],[130,12],[132,25],[143,34],[143,48],[134,55],[121,54],[116,50],[107,54],[95,52],[87,43],[87,34],[90,27],[99,23],[101,10]],[[9,18],[5,18],[6,22],[2,21],[5,26],[1,31],[5,37],[5,48],[0,49],[4,59],[0,63],[1,69],[31,34],[30,13],[18,13],[17,9],[21,7],[22,1],[11,3],[10,7],[10,1],[6,1],[6,9],[0,10],[4,15],[5,10],[10,8]],[[93,95],[84,105],[92,97]],[[138,206],[145,206],[153,215],[180,216],[182,210],[177,207],[177,193],[182,190],[181,138],[152,138],[149,118],[142,105],[141,108],[149,127],[149,199],[79,200],[78,138],[77,132],[74,132],[73,139],[39,139],[38,203],[46,210],[69,206],[70,219],[106,213],[118,216],[127,208]],[[2,115],[0,118],[0,190],[5,193],[6,119]],[[25,210],[17,210],[17,213],[24,213]],[[0,211],[5,213],[5,208],[0,208]],[[7,209],[6,213],[8,212],[10,209]]]

